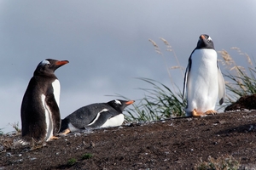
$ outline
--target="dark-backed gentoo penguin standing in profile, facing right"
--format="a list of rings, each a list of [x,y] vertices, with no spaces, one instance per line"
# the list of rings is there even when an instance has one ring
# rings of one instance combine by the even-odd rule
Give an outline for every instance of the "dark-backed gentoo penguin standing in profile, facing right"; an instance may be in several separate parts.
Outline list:
[[[34,71],[21,104],[21,131],[26,141],[56,138],[61,127],[61,87],[55,70],[67,63],[67,60],[45,59]]]

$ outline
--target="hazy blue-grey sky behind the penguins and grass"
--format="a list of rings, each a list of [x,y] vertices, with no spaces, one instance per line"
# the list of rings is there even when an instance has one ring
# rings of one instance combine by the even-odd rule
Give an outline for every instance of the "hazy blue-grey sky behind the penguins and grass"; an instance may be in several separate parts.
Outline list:
[[[182,89],[180,70],[170,70],[170,78],[166,66],[177,65],[176,55],[185,69],[201,34],[243,64],[246,59],[230,48],[255,58],[255,8],[251,0],[0,0],[0,128],[7,133],[14,130],[11,124],[21,127],[23,95],[44,59],[69,60],[55,71],[61,118],[84,105],[120,99],[116,94],[142,99],[145,93],[138,88],[152,87],[137,77]]]

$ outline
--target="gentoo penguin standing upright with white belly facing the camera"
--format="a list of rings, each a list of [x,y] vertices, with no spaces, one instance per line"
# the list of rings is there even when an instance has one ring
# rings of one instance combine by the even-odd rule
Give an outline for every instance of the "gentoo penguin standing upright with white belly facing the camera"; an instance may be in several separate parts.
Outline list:
[[[206,34],[199,37],[196,48],[190,54],[183,82],[183,99],[184,96],[187,99],[187,116],[216,114],[217,99],[219,105],[224,102],[224,77],[218,66],[212,38]]]

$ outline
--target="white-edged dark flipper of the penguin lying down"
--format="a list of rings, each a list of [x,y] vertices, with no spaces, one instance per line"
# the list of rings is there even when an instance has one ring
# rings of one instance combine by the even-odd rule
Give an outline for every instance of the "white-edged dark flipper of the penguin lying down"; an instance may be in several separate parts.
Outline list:
[[[105,122],[107,122],[108,118],[112,117],[112,114],[108,111],[108,109],[103,109],[98,112],[96,117],[90,122],[86,127],[96,128],[101,127]]]

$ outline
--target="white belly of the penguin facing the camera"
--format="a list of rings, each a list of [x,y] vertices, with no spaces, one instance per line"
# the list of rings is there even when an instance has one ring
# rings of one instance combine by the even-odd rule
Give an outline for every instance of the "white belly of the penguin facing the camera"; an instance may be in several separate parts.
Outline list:
[[[218,99],[217,54],[213,49],[195,50],[188,77],[187,112],[214,110]]]

